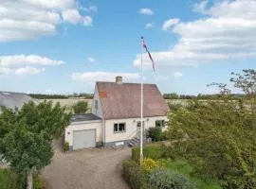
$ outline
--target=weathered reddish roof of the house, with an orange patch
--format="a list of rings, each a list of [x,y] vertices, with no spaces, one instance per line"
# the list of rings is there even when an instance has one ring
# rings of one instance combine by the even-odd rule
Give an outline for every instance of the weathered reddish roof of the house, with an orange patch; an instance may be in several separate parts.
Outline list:
[[[140,84],[97,82],[104,119],[140,117]],[[144,84],[143,116],[163,116],[168,105],[155,84]]]

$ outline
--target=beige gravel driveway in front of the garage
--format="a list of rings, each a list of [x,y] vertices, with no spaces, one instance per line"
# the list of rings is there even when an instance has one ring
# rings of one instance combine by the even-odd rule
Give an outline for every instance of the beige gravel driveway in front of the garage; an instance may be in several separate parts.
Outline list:
[[[131,157],[130,148],[84,149],[62,153],[57,147],[43,171],[46,189],[128,189],[118,165]]]

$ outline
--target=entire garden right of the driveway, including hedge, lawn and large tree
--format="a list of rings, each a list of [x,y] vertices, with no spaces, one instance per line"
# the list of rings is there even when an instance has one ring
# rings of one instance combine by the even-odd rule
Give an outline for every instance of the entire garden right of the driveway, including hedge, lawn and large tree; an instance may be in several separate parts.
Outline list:
[[[256,188],[256,71],[233,76],[246,97],[234,100],[226,84],[212,83],[219,100],[170,104],[168,128],[148,131],[154,143],[143,147],[143,165],[137,147],[122,163],[131,188]]]

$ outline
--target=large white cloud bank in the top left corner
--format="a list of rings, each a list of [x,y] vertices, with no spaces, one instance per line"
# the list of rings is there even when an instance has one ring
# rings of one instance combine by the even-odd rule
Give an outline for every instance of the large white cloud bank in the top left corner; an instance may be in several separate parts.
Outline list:
[[[51,36],[57,33],[57,26],[63,23],[89,26],[84,25],[84,20],[87,21],[88,16],[82,16],[76,2],[76,0],[1,0],[0,42]]]

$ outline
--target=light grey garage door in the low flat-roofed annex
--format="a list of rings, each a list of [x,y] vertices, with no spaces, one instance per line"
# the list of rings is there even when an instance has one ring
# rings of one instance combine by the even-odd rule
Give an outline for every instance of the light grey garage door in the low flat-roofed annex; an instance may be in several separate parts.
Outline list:
[[[95,129],[75,130],[73,132],[73,149],[95,147]]]

